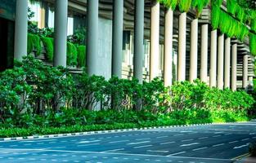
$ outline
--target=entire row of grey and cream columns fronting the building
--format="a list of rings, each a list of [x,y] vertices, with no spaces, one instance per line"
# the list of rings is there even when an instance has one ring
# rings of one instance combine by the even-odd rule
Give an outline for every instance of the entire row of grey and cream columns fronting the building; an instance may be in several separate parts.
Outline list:
[[[66,66],[66,32],[68,0],[56,0],[55,17],[55,42],[54,42],[54,66]],[[15,58],[22,59],[26,55],[27,42],[27,0],[16,1],[16,39]],[[98,41],[98,0],[88,0],[88,39],[87,39],[87,68],[88,74],[97,74],[97,41]],[[150,80],[159,77],[159,2],[153,2],[151,6],[150,26]],[[122,77],[122,40],[124,25],[124,0],[114,0],[113,14],[113,39],[112,39],[112,75]],[[177,80],[186,80],[186,13],[179,15],[178,26],[178,63]],[[208,36],[209,25],[201,27],[201,59],[200,80],[207,82],[208,79]],[[144,0],[135,0],[134,21],[134,76],[142,82],[143,38],[144,38]],[[218,36],[218,31],[210,33],[210,70],[209,86],[218,86],[219,89],[230,87],[236,90],[236,63],[237,45],[231,46],[231,38],[224,40],[224,35]],[[21,39],[20,39],[21,38]],[[191,22],[191,60],[190,77],[193,81],[197,78],[198,60],[198,20]],[[225,48],[224,48],[225,44]],[[232,48],[231,48],[232,47]],[[172,52],[173,52],[173,11],[166,9],[164,24],[164,85],[172,85]],[[232,60],[231,60],[232,55]],[[218,57],[217,57],[218,56]],[[225,59],[224,59],[225,56]],[[217,60],[218,59],[218,60]],[[218,62],[217,62],[218,61]],[[231,64],[230,64],[231,63]],[[225,66],[224,66],[225,65]],[[218,68],[217,68],[218,66]],[[225,68],[224,68],[225,67]],[[231,67],[231,72],[230,72]],[[218,73],[217,73],[218,69]],[[225,72],[224,72],[225,71]],[[231,73],[231,77],[230,77]],[[218,74],[218,78],[217,78]],[[248,55],[244,57],[243,86],[247,86],[248,80]],[[217,81],[217,82],[216,82]]]

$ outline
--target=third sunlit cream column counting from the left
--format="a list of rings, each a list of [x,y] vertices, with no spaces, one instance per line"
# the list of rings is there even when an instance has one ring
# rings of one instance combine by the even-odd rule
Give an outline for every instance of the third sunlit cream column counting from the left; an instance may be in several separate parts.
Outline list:
[[[179,15],[177,81],[186,80],[186,12]]]

